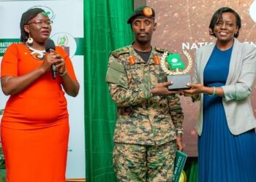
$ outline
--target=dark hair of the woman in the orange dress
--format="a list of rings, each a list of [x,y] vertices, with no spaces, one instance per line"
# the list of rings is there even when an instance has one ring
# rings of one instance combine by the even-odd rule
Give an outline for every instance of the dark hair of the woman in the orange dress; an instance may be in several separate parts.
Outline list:
[[[24,30],[24,25],[27,25],[29,20],[36,17],[40,12],[45,12],[45,10],[41,8],[31,8],[23,12],[20,20],[20,41],[25,43],[29,39],[29,33]],[[47,15],[46,12],[45,15]]]

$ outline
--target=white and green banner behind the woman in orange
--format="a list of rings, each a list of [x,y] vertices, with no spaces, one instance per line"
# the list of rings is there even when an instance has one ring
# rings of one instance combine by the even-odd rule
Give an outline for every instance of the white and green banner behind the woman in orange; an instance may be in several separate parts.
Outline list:
[[[67,95],[70,125],[67,178],[85,178],[83,0],[0,1],[0,63],[7,47],[20,41],[20,17],[31,7],[45,9],[53,20],[50,39],[65,47],[80,83],[76,98]],[[0,109],[4,108],[7,99],[0,92]]]

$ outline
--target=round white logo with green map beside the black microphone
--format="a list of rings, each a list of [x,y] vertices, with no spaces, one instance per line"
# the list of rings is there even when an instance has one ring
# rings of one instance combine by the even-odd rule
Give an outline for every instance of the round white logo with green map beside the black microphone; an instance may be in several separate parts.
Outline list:
[[[67,52],[70,58],[75,55],[77,50],[77,43],[69,33],[56,33],[50,37],[53,39],[54,43],[58,46],[64,47],[64,50]]]

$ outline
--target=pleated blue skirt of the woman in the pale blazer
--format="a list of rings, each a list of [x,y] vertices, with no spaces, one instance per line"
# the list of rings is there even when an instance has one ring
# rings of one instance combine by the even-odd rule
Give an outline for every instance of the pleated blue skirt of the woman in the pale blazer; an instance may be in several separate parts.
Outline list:
[[[204,95],[203,132],[198,137],[200,182],[256,181],[256,134],[233,135],[222,97]]]

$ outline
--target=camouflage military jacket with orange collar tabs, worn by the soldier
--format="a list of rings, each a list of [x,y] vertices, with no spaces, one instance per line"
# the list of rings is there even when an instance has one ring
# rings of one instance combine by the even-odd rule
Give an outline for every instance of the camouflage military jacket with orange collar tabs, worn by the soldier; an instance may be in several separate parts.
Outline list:
[[[175,94],[158,96],[150,92],[152,87],[166,82],[159,66],[163,53],[164,50],[153,47],[148,63],[140,58],[132,45],[110,54],[106,82],[117,105],[114,141],[128,144],[127,150],[136,145],[161,146],[168,143],[171,153],[175,152],[176,130],[183,130],[184,114],[180,100]],[[120,145],[115,146],[114,162],[119,154],[125,154],[124,151],[118,152],[119,149]]]

